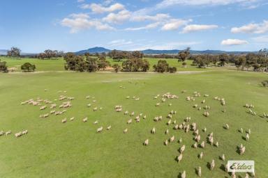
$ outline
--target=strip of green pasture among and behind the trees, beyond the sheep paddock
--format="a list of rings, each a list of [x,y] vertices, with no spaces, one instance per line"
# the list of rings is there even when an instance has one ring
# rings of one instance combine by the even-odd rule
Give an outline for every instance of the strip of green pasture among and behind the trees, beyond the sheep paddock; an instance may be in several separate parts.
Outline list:
[[[65,71],[64,70],[64,63],[65,60],[63,58],[59,58],[59,59],[50,59],[50,60],[40,60],[40,59],[36,59],[36,58],[21,58],[21,59],[17,59],[17,58],[6,58],[6,57],[0,57],[0,59],[2,61],[6,61],[8,68],[10,67],[15,67],[16,70],[15,71],[21,71],[20,70],[20,66],[23,65],[24,63],[31,63],[36,65],[36,71],[39,72],[50,72],[50,71]],[[147,60],[149,60],[150,63],[150,71],[153,71],[153,65],[157,64],[158,60],[157,58],[146,58]],[[112,60],[112,58],[107,58],[107,60],[110,61],[111,65],[114,65],[115,63],[118,63],[119,65],[121,65],[121,61],[115,61]],[[192,66],[192,60],[188,60],[187,62],[187,67],[183,67],[181,65],[181,62],[178,62],[177,59],[173,59],[173,58],[168,58],[168,59],[162,59],[162,60],[167,60],[169,65],[171,67],[177,67],[178,71],[203,71],[203,70],[218,70],[220,67],[215,67],[215,66],[209,66],[207,68],[198,68],[196,66]],[[230,67],[228,67],[230,68]],[[231,67],[232,68],[232,67]],[[221,67],[222,69],[222,67]]]

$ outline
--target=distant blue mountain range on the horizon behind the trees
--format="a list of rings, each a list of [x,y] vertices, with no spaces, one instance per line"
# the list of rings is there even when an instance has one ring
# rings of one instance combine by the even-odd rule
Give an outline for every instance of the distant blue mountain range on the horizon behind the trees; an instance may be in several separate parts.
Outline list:
[[[110,49],[106,49],[104,47],[94,47],[82,51],[77,51],[75,54],[85,54],[85,53],[107,53],[111,51]],[[120,51],[120,50],[119,50]],[[155,49],[146,49],[141,51],[143,54],[178,54],[179,49],[172,49],[172,50],[155,50]],[[191,50],[191,54],[248,54],[248,53],[256,53],[256,51],[221,51],[221,50],[204,50],[204,51],[197,51]]]

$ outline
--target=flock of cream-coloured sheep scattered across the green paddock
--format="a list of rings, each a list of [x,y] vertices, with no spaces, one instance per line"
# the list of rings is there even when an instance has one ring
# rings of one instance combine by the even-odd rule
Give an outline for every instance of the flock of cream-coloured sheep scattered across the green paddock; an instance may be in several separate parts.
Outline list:
[[[120,88],[123,88],[123,87],[120,87]],[[45,90],[45,91],[47,91],[47,90]],[[66,91],[64,91],[64,92],[66,92]],[[186,92],[186,90],[184,90],[182,92],[184,93],[184,92]],[[186,97],[186,101],[187,102],[190,102],[190,101],[195,102],[195,99],[197,97],[201,97],[200,92],[193,92],[193,95]],[[209,115],[210,115],[209,110],[211,109],[211,107],[208,105],[204,106],[204,104],[206,103],[206,98],[209,97],[209,95],[205,94],[205,95],[203,95],[203,97],[204,97],[204,99],[202,99],[201,104],[194,104],[193,108],[197,108],[198,111],[201,111],[203,108],[204,113],[202,115],[204,115],[205,117],[209,117]],[[135,96],[134,97],[130,97],[130,96],[126,97],[126,99],[131,99],[131,98],[135,99],[135,101],[140,100],[140,97],[135,97]],[[177,95],[172,95],[170,92],[167,92],[163,95],[156,95],[154,97],[154,99],[159,99],[160,102],[156,102],[155,106],[156,107],[161,106],[161,103],[165,103],[169,99],[178,99],[178,98],[179,97]],[[47,111],[50,108],[50,111],[47,111],[47,113],[40,115],[40,118],[47,118],[50,115],[62,115],[63,113],[65,113],[68,110],[68,108],[71,108],[73,106],[71,103],[71,101],[73,99],[75,99],[75,98],[60,95],[59,99],[54,99],[54,102],[47,100],[47,99],[37,98],[37,99],[29,99],[27,101],[22,102],[21,104],[22,105],[29,104],[32,106],[39,106],[40,111]],[[92,102],[96,102],[95,97],[87,96],[86,99],[93,99]],[[220,104],[223,106],[223,113],[225,113],[225,99],[221,98],[221,97],[214,97],[214,99],[216,101],[220,102]],[[57,104],[55,104],[55,102],[57,102],[57,101],[61,101],[62,103],[59,104],[59,106],[58,106]],[[172,104],[170,103],[170,104],[168,104],[168,106],[172,106]],[[91,107],[91,104],[87,104],[87,107]],[[249,111],[248,111],[249,113],[256,115],[256,113],[254,111],[252,111],[252,109],[254,108],[254,106],[252,104],[246,104],[244,107],[249,109]],[[99,107],[99,108],[94,107],[93,111],[97,111],[98,109],[102,110],[102,107]],[[114,106],[114,111],[121,113],[123,111],[123,106],[121,106],[121,105]],[[178,123],[177,120],[172,120],[173,118],[175,118],[174,115],[176,115],[176,114],[177,114],[177,111],[172,110],[169,113],[167,113],[166,117],[163,117],[162,115],[155,116],[153,118],[153,121],[154,122],[161,122],[161,120],[166,118],[168,121],[165,122],[165,124],[167,124],[168,126],[173,125],[173,127],[171,127],[170,129],[174,129],[176,131],[181,130],[181,131],[184,131],[185,133],[192,131],[193,136],[194,136],[193,140],[195,140],[195,143],[193,143],[193,145],[191,145],[191,147],[193,149],[197,149],[198,147],[200,147],[201,149],[205,149],[206,142],[209,143],[210,145],[214,145],[214,147],[219,147],[219,143],[217,140],[215,140],[213,132],[210,132],[207,135],[207,138],[202,138],[202,136],[200,135],[200,132],[206,133],[207,132],[206,127],[202,128],[202,129],[200,127],[198,127],[198,124],[196,122],[191,122],[190,116],[186,117],[183,122]],[[133,120],[135,120],[135,122],[140,122],[141,119],[143,119],[143,120],[147,119],[147,115],[144,115],[143,113],[139,113],[135,116],[134,111],[133,112],[124,111],[124,115],[130,117],[126,122],[126,125],[130,125],[133,122]],[[268,114],[264,113],[263,116],[265,118],[268,118]],[[68,120],[73,121],[73,120],[75,120],[75,117],[72,117],[70,119],[64,118],[61,120],[61,122],[66,123],[66,122],[68,122]],[[82,119],[82,122],[87,122],[87,121],[88,121],[88,118]],[[96,120],[94,122],[94,124],[98,124],[98,120]],[[111,128],[112,128],[112,126],[110,125],[110,126],[106,127],[106,130],[109,131]],[[228,124],[225,124],[224,128],[226,130],[228,130],[228,129],[230,129],[230,126]],[[123,133],[128,133],[128,129],[129,128],[124,129]],[[102,131],[103,131],[103,126],[96,129],[97,133],[101,133]],[[243,128],[239,129],[239,131],[241,133],[244,133]],[[155,134],[156,127],[153,127],[150,132],[151,132],[151,134]],[[164,134],[168,135],[169,132],[170,132],[169,129],[166,129]],[[11,131],[6,131],[6,132],[0,131],[0,136],[3,136],[3,135],[8,136],[10,133],[11,133]],[[21,136],[26,135],[27,133],[28,133],[27,130],[20,131],[20,132],[15,133],[15,137],[19,138]],[[249,141],[250,134],[251,134],[251,129],[248,129],[246,131],[246,136],[245,136],[246,141]],[[170,138],[165,139],[163,141],[163,145],[168,146],[170,143],[174,143],[175,139],[176,139],[175,136],[172,135]],[[178,138],[177,142],[183,143],[182,138]],[[144,140],[143,145],[149,146],[149,138],[146,138]],[[191,148],[187,148],[187,149],[191,149]],[[183,159],[183,155],[184,155],[185,150],[186,150],[186,145],[182,145],[179,148],[179,155],[175,158],[178,163],[180,163],[181,160]],[[241,155],[245,154],[246,147],[241,144],[238,147],[238,152]],[[202,159],[203,155],[204,155],[203,152],[200,152],[200,154],[198,154],[198,158]],[[220,158],[222,161],[225,161],[225,154],[222,154],[222,156],[220,156]],[[215,161],[214,161],[214,159],[212,159],[211,163],[209,165],[210,170],[214,170],[215,166],[216,166]],[[227,171],[227,165],[225,166],[225,170]],[[201,170],[200,166],[198,166],[196,174],[198,175],[198,177],[202,177],[202,170]],[[232,178],[235,178],[236,177],[235,172],[232,172],[231,176],[232,176]],[[254,176],[254,175],[251,175],[251,176]],[[183,172],[181,172],[180,177],[186,178],[186,170],[183,170]],[[246,173],[245,178],[248,178],[248,177],[249,177],[249,175],[248,175],[248,173]]]

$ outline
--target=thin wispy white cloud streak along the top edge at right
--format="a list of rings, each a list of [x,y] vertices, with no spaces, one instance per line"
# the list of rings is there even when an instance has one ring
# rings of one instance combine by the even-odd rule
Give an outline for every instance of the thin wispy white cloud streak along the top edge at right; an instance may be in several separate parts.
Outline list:
[[[174,5],[184,6],[225,6],[231,3],[240,3],[241,5],[255,3],[260,0],[163,0],[156,5],[156,8],[165,8]]]

